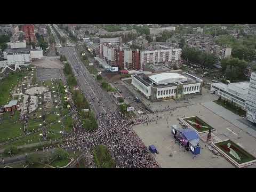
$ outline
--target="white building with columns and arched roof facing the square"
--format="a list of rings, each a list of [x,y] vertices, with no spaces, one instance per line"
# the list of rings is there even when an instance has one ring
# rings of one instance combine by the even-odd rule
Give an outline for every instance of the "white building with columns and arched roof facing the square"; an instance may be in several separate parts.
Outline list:
[[[132,75],[132,85],[147,99],[179,99],[187,94],[201,94],[202,79],[188,73],[157,73]]]

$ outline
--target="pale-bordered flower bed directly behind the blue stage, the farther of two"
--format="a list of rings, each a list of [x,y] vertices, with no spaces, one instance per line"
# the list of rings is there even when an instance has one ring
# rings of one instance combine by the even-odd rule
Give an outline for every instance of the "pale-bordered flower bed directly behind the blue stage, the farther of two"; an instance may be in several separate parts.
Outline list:
[[[209,129],[211,129],[211,131],[215,131],[212,126],[205,123],[201,118],[197,116],[180,118],[179,121],[181,124],[184,124],[187,127],[195,130],[198,134],[209,132]]]

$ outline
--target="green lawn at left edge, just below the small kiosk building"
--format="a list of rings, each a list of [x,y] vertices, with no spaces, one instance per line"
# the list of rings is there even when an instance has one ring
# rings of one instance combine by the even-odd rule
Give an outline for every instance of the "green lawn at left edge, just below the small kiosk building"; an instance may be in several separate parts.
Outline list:
[[[18,137],[20,136],[20,133],[22,134],[23,125],[19,121],[19,116],[19,111],[15,111],[13,116],[10,115],[10,112],[5,112],[4,119],[3,116],[1,116],[3,120],[0,124],[0,142],[7,141],[8,138],[12,139]]]

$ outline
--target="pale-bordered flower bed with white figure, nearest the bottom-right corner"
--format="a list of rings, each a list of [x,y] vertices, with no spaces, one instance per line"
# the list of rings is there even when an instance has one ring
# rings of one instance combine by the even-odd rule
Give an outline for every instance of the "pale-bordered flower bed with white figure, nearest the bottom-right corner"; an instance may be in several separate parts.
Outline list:
[[[212,143],[212,146],[231,164],[238,168],[246,167],[256,162],[256,158],[253,155],[229,139],[214,142]]]

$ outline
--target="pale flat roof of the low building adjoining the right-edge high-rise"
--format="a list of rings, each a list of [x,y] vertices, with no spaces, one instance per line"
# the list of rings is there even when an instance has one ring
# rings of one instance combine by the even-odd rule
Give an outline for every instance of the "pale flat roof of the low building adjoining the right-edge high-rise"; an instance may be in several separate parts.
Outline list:
[[[247,98],[247,93],[249,89],[249,82],[239,82],[239,83],[212,83],[212,86],[216,86],[221,90],[227,91],[231,94],[236,95],[244,100]]]

